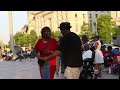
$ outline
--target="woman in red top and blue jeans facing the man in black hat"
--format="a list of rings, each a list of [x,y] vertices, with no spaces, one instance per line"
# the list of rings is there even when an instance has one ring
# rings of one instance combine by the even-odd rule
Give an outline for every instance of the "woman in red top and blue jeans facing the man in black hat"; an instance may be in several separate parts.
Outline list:
[[[41,57],[46,57],[52,54],[58,47],[58,43],[54,38],[51,38],[51,30],[49,27],[44,27],[41,30],[42,39],[39,39],[35,45],[35,50],[38,52],[38,60]],[[44,62],[40,66],[40,74],[42,79],[53,79],[56,71],[56,58]]]

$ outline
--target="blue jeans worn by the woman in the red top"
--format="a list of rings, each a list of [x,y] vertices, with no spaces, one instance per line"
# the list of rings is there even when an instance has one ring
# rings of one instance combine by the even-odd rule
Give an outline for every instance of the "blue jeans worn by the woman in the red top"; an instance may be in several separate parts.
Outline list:
[[[49,64],[49,62],[45,62],[45,64],[43,64],[41,69],[42,69],[41,78],[42,79],[50,79],[50,64]]]

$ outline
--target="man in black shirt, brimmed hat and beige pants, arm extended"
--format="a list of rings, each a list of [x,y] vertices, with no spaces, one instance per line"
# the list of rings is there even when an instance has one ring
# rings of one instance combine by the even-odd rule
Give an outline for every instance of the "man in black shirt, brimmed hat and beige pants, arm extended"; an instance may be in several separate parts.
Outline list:
[[[60,41],[58,50],[48,57],[43,58],[47,61],[50,58],[58,56],[62,53],[63,62],[66,66],[64,76],[66,79],[79,79],[80,68],[82,66],[82,51],[81,51],[81,40],[80,37],[70,31],[70,23],[62,22],[60,24],[60,30],[63,38]]]

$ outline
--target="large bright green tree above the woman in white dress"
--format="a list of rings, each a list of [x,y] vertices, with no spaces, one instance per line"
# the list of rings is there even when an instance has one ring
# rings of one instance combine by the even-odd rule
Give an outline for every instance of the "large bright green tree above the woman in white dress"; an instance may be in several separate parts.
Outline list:
[[[108,14],[101,14],[97,19],[98,35],[105,43],[109,43],[112,39],[112,35],[115,33],[111,19],[111,16]]]

